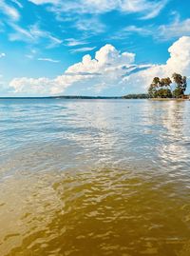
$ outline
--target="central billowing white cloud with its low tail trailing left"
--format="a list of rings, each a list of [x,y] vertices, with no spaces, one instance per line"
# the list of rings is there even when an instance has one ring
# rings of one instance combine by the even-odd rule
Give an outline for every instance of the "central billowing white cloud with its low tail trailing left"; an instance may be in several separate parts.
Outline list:
[[[70,66],[63,75],[55,79],[47,78],[15,78],[10,82],[10,87],[15,92],[56,94],[62,93],[67,87],[76,84],[88,83],[88,86],[106,83],[116,85],[121,76],[126,73],[127,68],[134,62],[135,54],[129,52],[121,53],[111,45],[105,45],[96,51],[95,58],[85,55],[82,62]],[[124,67],[124,69],[123,69]]]

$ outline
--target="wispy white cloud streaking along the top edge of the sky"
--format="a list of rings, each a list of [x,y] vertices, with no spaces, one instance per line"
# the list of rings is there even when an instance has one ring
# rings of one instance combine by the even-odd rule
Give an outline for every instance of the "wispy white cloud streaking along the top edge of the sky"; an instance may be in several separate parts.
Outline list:
[[[119,10],[126,13],[140,13],[143,19],[156,17],[167,0],[29,0],[36,5],[51,4],[53,11],[77,13],[104,13]],[[148,13],[148,14],[147,14]]]

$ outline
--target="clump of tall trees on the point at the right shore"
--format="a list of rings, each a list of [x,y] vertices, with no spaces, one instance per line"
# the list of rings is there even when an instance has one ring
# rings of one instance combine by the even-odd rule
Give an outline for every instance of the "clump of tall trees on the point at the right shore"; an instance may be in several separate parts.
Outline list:
[[[174,89],[172,89],[172,84],[175,84]],[[148,89],[148,95],[150,98],[182,98],[186,88],[186,76],[173,73],[172,79],[154,77]]]

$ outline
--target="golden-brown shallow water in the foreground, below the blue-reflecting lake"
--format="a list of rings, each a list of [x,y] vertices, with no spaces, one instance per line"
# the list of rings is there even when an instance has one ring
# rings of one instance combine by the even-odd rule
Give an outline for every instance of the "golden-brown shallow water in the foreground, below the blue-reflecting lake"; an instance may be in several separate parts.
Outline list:
[[[1,255],[189,255],[190,195],[180,182],[93,169],[8,179]]]

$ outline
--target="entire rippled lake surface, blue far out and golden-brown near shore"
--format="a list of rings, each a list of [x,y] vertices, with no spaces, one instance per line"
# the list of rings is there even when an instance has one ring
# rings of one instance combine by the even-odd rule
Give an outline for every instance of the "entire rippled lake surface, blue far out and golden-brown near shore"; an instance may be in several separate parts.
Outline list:
[[[190,255],[190,102],[0,100],[0,255]]]

